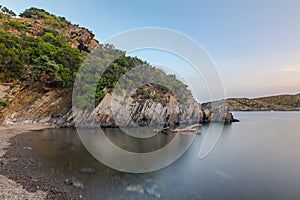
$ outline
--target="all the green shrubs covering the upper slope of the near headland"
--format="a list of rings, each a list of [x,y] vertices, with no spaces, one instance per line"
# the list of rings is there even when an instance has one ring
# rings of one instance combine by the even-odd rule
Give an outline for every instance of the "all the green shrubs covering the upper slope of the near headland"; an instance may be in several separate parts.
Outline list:
[[[135,81],[149,80],[148,76],[152,74],[150,81],[158,84],[155,90],[160,90],[163,95],[170,89],[182,94],[181,100],[190,95],[186,92],[186,85],[174,75],[166,75],[136,57],[126,56],[112,45],[102,45],[92,53],[80,50],[82,44],[74,43],[70,36],[75,27],[79,31],[80,28],[64,17],[30,8],[20,14],[21,18],[15,18],[9,9],[0,6],[0,10],[0,82],[38,83],[41,88],[71,87],[75,76],[79,76],[78,88],[84,93],[79,93],[76,105],[93,108],[107,93],[114,91],[127,72],[144,66],[143,73],[137,71],[122,80],[128,88],[136,87]],[[82,73],[78,74],[80,67]],[[170,88],[159,85],[170,85]],[[152,98],[151,91],[142,91],[145,98]],[[160,99],[160,96],[153,98]],[[95,102],[89,99],[95,99]],[[2,105],[6,103],[2,102]]]

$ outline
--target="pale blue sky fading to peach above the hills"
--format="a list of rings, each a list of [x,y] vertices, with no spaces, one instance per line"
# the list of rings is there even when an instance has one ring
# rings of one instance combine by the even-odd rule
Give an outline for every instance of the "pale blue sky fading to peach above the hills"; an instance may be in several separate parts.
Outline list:
[[[298,0],[1,0],[0,4],[16,13],[43,8],[92,30],[100,42],[143,27],[183,33],[214,62],[227,97],[300,92]],[[130,55],[159,65],[186,64],[158,52]],[[199,80],[199,85],[205,84]]]

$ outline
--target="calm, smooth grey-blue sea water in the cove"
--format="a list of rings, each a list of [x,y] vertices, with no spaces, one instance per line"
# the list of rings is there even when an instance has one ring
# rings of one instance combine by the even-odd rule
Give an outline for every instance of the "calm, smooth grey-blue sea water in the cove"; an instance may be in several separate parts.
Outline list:
[[[234,116],[240,122],[224,127],[205,159],[198,159],[207,130],[202,127],[201,135],[180,159],[145,174],[122,173],[99,163],[72,129],[46,130],[28,137],[33,154],[47,163],[45,171],[60,182],[66,178],[80,181],[88,199],[298,200],[300,112],[236,112]],[[106,133],[132,150],[158,148],[172,139],[162,135],[155,144],[141,145],[138,141],[124,142],[117,129],[107,129]],[[87,167],[96,169],[96,174],[79,173]]]

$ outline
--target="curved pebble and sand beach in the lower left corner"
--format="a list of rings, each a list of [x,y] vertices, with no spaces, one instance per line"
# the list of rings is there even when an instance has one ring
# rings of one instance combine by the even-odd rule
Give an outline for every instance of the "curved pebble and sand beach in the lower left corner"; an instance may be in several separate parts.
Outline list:
[[[27,132],[55,128],[39,124],[0,126],[0,199],[84,199],[41,173],[40,162],[24,148]]]

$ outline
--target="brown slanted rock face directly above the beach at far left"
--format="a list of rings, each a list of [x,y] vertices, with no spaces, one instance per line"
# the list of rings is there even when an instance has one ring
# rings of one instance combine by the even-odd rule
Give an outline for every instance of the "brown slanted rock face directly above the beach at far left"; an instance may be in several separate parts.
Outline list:
[[[2,124],[56,124],[70,109],[71,96],[66,90],[40,91],[29,86],[14,86],[11,103],[1,109]]]

